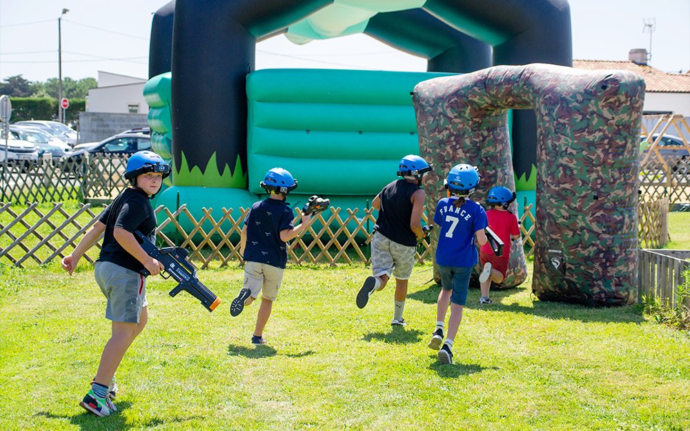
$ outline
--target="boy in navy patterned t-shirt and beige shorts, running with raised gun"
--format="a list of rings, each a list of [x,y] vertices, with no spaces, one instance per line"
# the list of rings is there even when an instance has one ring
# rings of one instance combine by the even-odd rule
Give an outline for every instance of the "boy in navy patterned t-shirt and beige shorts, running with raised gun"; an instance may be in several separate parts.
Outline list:
[[[297,180],[287,170],[273,168],[261,183],[268,198],[254,203],[244,219],[239,252],[244,261],[244,284],[230,304],[230,314],[237,316],[262,292],[261,306],[252,336],[253,344],[266,344],[264,327],[270,317],[273,301],[283,280],[288,260],[286,242],[297,237],[311,221],[302,213],[302,223],[293,226],[293,210],[285,202],[289,192],[297,188]]]

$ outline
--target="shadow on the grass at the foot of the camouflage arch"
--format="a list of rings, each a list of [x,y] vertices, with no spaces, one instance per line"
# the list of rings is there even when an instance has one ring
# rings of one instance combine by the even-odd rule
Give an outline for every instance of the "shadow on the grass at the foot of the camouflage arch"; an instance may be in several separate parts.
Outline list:
[[[525,307],[516,302],[504,303],[510,301],[508,298],[513,294],[520,292],[524,288],[511,289],[494,289],[491,290],[491,299],[493,304],[480,305],[479,297],[480,291],[478,288],[470,286],[467,294],[467,302],[464,306],[465,310],[482,310],[488,312],[515,312],[532,314],[533,316],[546,317],[547,319],[571,319],[582,322],[625,322],[625,323],[642,323],[644,318],[640,308],[636,305],[622,306],[622,307],[588,307],[577,303],[551,302],[540,301],[536,297],[532,297],[532,306]],[[529,288],[527,288],[529,289]],[[424,290],[418,290],[408,294],[407,297],[421,301],[423,303],[436,303],[438,299],[438,292],[441,291],[441,286],[431,284]]]

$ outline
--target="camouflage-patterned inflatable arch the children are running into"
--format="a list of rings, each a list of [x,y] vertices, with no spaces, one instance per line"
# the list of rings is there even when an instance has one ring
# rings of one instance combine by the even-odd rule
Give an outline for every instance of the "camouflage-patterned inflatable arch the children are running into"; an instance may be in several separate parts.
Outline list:
[[[538,141],[533,292],[546,301],[633,301],[641,77],[544,64],[495,66],[424,81],[413,99],[422,155],[437,167],[426,185],[427,212],[444,193],[443,172],[455,163],[479,168],[478,201],[493,186],[512,187],[506,110],[533,109]],[[511,250],[519,252],[515,245]],[[524,262],[511,259],[511,283],[522,277],[515,265]]]

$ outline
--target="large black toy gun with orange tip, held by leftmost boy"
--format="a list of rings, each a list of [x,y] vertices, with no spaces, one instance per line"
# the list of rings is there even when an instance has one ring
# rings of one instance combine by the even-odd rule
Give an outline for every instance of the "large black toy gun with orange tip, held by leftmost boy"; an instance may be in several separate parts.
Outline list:
[[[165,269],[161,271],[161,277],[164,279],[175,279],[177,287],[170,290],[170,296],[175,297],[179,292],[185,290],[190,295],[199,299],[201,305],[206,307],[206,310],[213,311],[221,302],[221,299],[197,279],[197,270],[187,260],[189,252],[180,247],[164,247],[157,248],[144,234],[135,230],[135,237],[141,244],[141,248],[146,253],[163,264]],[[148,277],[150,272],[146,268],[140,271],[142,275]],[[166,277],[164,274],[168,274]]]

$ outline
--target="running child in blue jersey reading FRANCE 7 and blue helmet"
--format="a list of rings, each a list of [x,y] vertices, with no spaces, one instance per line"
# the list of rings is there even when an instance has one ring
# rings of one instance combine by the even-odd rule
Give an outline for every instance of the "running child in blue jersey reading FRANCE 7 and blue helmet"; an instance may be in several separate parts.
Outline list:
[[[480,245],[487,242],[484,232],[489,225],[486,212],[480,204],[467,199],[479,181],[480,176],[474,166],[453,166],[444,181],[449,197],[439,201],[433,217],[434,223],[441,227],[436,245],[436,263],[441,272],[442,289],[436,304],[436,329],[428,346],[439,351],[441,363],[453,363],[453,340],[462,320],[472,268],[477,264],[475,240]],[[441,347],[449,303],[451,317],[448,334]]]

